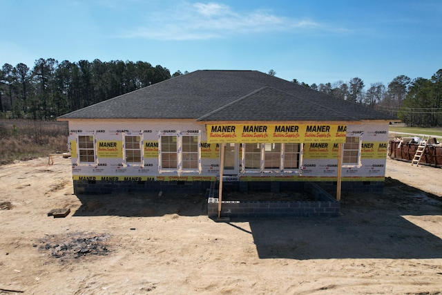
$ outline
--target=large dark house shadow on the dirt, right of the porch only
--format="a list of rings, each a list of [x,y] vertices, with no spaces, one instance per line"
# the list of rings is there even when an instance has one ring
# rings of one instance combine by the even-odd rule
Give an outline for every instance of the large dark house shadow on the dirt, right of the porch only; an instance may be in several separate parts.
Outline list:
[[[249,224],[260,258],[442,258],[442,239],[403,217],[421,216],[440,225],[442,202],[437,198],[387,178],[384,193],[343,195],[338,218]]]

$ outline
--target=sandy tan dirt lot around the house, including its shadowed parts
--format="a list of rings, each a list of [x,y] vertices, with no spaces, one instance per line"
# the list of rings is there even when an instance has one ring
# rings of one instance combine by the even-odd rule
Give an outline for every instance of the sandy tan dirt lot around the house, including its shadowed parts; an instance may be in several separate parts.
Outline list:
[[[202,195],[75,196],[70,159],[0,166],[0,294],[441,294],[442,169],[386,176],[338,218],[215,222]]]

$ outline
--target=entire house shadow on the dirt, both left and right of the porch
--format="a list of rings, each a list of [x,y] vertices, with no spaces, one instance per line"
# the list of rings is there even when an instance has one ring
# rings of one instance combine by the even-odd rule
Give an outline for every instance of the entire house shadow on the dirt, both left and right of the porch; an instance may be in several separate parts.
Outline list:
[[[77,196],[74,216],[206,216],[204,194],[119,193]],[[442,222],[442,201],[386,178],[383,193],[344,193],[338,218],[231,220],[253,236],[260,258],[442,258],[442,235],[435,236],[403,216]],[[237,222],[238,221],[238,222]],[[251,232],[242,228],[249,222]]]

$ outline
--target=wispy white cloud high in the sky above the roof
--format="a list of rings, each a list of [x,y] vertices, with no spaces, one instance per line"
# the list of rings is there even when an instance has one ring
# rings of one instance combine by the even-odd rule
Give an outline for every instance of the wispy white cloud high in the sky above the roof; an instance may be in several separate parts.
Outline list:
[[[263,32],[328,30],[310,19],[291,19],[266,10],[236,12],[222,3],[183,2],[146,17],[146,25],[126,32],[128,38],[205,40]]]

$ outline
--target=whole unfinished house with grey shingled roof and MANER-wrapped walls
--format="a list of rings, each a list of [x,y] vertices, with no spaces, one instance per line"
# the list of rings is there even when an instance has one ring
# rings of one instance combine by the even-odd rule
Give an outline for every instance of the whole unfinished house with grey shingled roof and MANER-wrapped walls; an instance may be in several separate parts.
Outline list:
[[[58,120],[75,193],[111,193],[220,179],[378,189],[395,118],[257,71],[198,70]]]

